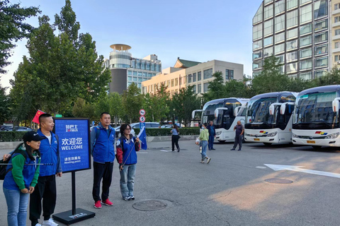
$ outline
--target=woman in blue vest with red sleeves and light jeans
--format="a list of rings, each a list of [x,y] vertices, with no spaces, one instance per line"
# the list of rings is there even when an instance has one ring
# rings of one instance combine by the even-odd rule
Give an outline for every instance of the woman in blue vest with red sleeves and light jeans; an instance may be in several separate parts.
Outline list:
[[[135,200],[133,194],[135,186],[135,174],[137,165],[137,151],[140,150],[140,138],[131,134],[131,126],[120,126],[120,138],[117,141],[117,160],[120,170],[120,193],[123,200]]]

